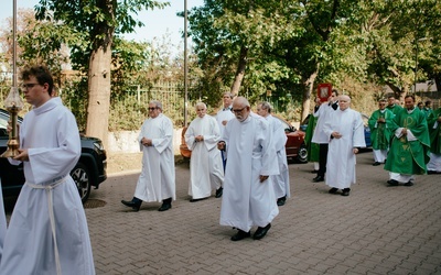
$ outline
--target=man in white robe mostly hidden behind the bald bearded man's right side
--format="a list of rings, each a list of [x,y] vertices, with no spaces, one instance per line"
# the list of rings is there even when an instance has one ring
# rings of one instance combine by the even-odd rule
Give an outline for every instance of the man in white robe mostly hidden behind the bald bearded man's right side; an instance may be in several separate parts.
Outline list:
[[[271,129],[271,142],[276,147],[277,162],[279,164],[279,174],[271,176],[271,180],[275,185],[277,205],[283,206],[287,198],[291,197],[287,151],[284,148],[287,134],[284,133],[283,124],[280,120],[272,117],[271,109],[269,102],[261,102],[257,106],[257,113],[268,121]]]

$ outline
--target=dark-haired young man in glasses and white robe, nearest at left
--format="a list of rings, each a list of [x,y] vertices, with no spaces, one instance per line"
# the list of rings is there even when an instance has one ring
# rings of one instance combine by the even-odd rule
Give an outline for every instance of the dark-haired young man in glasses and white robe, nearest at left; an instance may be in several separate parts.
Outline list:
[[[21,72],[33,109],[20,127],[25,184],[7,230],[0,274],[95,274],[86,216],[69,172],[82,147],[75,117],[57,97],[44,66]],[[9,129],[10,130],[10,129]]]

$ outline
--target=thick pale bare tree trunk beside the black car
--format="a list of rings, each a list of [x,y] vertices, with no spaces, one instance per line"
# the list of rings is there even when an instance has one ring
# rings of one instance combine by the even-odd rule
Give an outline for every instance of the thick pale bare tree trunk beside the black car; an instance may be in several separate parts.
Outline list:
[[[99,47],[90,55],[88,72],[88,107],[86,134],[99,138],[105,148],[108,141],[110,113],[110,62],[111,50]]]

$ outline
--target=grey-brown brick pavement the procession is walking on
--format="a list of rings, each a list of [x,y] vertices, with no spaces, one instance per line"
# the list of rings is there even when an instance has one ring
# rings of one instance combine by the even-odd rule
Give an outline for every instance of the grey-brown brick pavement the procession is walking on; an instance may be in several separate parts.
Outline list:
[[[97,274],[441,274],[441,176],[387,187],[388,174],[358,155],[349,197],[313,184],[311,164],[290,164],[292,198],[260,241],[229,240],[220,199],[189,202],[189,167],[176,166],[170,211],[143,204],[131,212],[139,174],[110,176],[86,209]],[[254,229],[255,230],[255,229]]]

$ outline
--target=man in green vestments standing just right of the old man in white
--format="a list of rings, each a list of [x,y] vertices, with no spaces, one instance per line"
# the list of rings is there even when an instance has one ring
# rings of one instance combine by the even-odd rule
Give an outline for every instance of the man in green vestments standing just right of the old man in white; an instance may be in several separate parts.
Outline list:
[[[391,136],[391,123],[395,114],[386,109],[386,99],[378,101],[378,110],[374,111],[368,120],[370,129],[370,141],[374,153],[373,166],[384,164],[389,150],[389,141]]]

